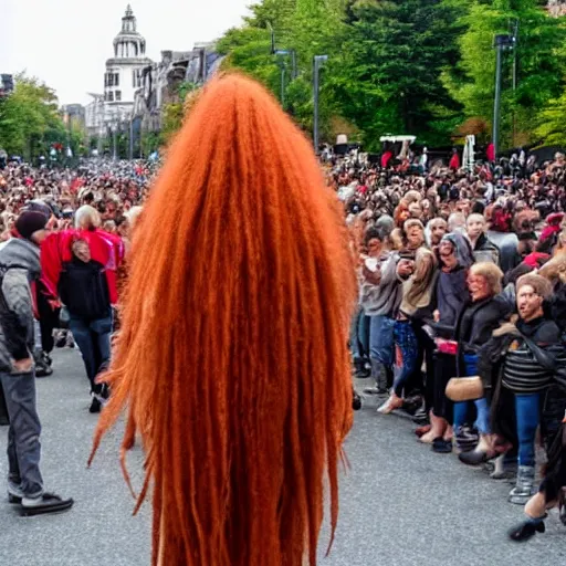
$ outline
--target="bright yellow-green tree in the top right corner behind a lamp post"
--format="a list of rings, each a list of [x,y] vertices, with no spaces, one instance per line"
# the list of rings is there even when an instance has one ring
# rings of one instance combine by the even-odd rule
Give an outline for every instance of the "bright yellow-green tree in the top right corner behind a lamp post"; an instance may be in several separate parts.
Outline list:
[[[442,75],[444,85],[464,108],[465,117],[492,122],[495,77],[494,35],[509,33],[518,21],[517,87],[513,92],[513,57],[503,56],[502,142],[528,142],[541,119],[539,113],[564,85],[566,29],[564,20],[548,17],[539,0],[493,0],[471,2],[460,19],[465,32],[459,38],[461,61]],[[515,125],[513,127],[513,120]],[[513,139],[513,129],[517,132]],[[525,139],[527,138],[527,139]]]

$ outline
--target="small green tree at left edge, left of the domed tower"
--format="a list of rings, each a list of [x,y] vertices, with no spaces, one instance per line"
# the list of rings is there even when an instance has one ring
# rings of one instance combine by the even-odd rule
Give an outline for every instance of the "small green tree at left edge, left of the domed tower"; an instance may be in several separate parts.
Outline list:
[[[13,93],[0,99],[0,147],[34,158],[46,154],[53,143],[66,144],[69,137],[54,91],[36,78],[18,75]],[[76,134],[71,133],[71,138],[78,150]]]

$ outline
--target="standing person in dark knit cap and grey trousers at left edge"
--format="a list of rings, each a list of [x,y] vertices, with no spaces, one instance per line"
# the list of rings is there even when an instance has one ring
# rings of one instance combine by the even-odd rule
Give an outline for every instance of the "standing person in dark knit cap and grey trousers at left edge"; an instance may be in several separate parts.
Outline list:
[[[39,467],[32,287],[40,276],[40,244],[49,233],[46,224],[44,213],[22,212],[14,238],[0,251],[0,381],[10,420],[8,499],[21,505],[23,515],[66,511],[73,505],[73,500],[44,491]]]

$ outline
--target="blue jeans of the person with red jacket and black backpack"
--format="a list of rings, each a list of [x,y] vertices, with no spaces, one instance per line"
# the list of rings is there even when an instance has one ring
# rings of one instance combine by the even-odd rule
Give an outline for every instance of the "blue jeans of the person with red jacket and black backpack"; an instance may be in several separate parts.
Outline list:
[[[71,315],[69,327],[83,356],[86,377],[91,381],[91,392],[99,392],[96,376],[111,359],[112,315],[96,321],[85,321]]]

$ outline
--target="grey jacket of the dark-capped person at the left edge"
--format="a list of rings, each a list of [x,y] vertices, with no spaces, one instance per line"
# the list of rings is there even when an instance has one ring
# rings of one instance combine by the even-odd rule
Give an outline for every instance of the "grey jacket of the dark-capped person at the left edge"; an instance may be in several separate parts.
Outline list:
[[[10,371],[14,359],[25,359],[33,349],[33,300],[31,285],[40,276],[40,249],[28,240],[11,239],[0,250],[2,293],[10,314],[0,313],[0,370]]]

